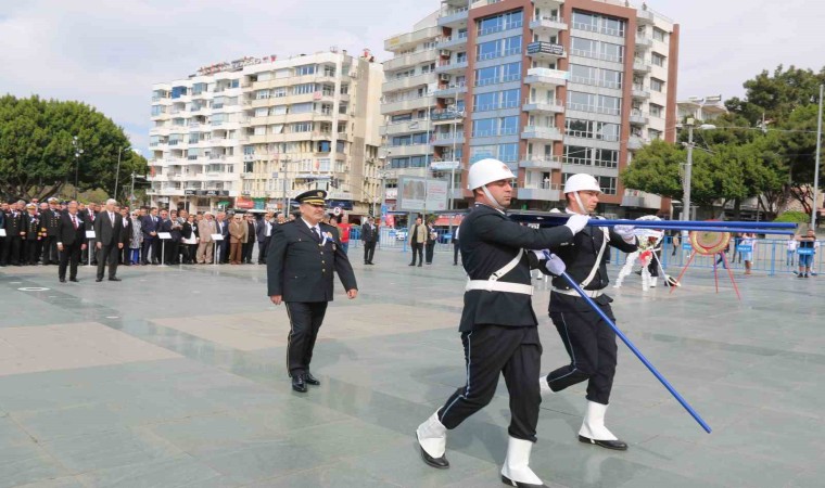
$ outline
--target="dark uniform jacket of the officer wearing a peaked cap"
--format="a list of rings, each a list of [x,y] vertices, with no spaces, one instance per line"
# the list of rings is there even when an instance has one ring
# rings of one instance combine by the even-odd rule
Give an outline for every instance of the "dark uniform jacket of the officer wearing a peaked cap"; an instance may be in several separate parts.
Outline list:
[[[344,290],[357,290],[338,229],[327,223],[319,227],[326,240],[319,240],[301,218],[272,227],[266,255],[269,296],[282,295],[284,301],[332,301],[334,273]]]

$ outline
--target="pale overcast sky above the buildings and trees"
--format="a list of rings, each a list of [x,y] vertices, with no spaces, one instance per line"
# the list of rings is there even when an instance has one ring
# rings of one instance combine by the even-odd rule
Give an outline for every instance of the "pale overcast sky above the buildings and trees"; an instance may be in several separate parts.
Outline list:
[[[632,2],[640,4],[640,1]],[[744,95],[778,64],[825,66],[817,0],[648,0],[682,26],[678,97]],[[244,55],[370,48],[439,0],[0,0],[0,93],[79,100],[145,153],[151,86]]]

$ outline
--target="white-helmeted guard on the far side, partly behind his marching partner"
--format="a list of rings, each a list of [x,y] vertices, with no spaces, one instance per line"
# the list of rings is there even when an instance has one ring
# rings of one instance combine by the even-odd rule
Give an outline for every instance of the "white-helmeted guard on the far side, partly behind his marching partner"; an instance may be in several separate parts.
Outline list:
[[[579,174],[568,178],[564,196],[571,219],[594,213],[600,193],[598,182],[591,175]],[[602,292],[608,285],[608,246],[624,253],[636,251],[633,227],[615,226],[612,230],[588,227],[578,233],[572,242],[550,246],[550,249],[564,262],[567,273],[580,283],[608,317],[615,320],[610,308],[612,298]],[[627,445],[605,426],[615,374],[615,333],[561,277],[553,280],[549,314],[571,362],[540,378],[542,393],[560,391],[586,381],[587,409],[579,440],[608,449],[627,449]]]

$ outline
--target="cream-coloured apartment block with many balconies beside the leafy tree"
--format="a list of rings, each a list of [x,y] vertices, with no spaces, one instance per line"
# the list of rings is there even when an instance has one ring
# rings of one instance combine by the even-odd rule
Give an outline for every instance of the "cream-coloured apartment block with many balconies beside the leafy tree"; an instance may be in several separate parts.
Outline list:
[[[306,190],[366,215],[380,203],[383,72],[369,52],[244,57],[157,84],[150,195],[191,210],[284,209]]]

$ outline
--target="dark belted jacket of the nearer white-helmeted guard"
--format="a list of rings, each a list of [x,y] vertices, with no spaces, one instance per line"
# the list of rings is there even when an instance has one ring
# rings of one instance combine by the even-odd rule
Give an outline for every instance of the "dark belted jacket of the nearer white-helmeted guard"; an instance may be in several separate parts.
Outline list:
[[[487,280],[507,266],[519,249],[543,249],[569,242],[573,233],[564,226],[532,229],[520,226],[505,214],[486,205],[477,204],[460,226],[458,242],[461,261],[471,280]],[[519,265],[499,281],[531,284],[529,252]],[[465,292],[459,331],[472,331],[477,325],[506,326],[537,325],[530,295],[472,290]]]

